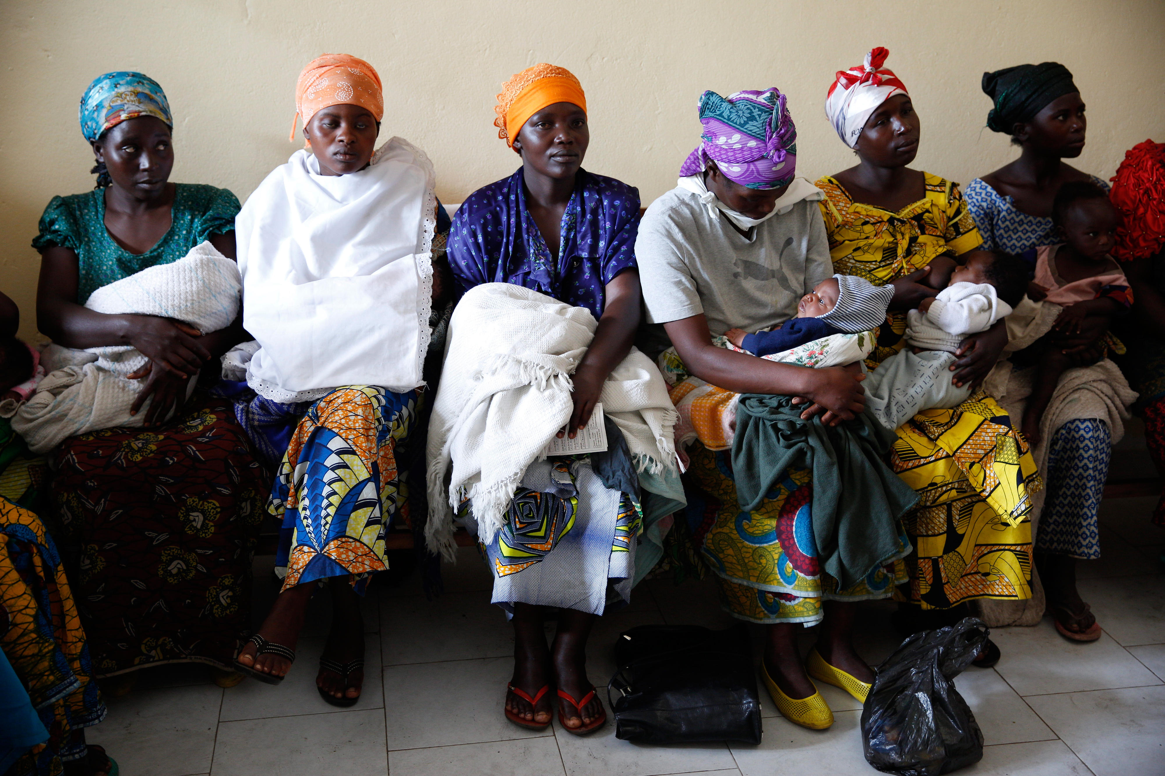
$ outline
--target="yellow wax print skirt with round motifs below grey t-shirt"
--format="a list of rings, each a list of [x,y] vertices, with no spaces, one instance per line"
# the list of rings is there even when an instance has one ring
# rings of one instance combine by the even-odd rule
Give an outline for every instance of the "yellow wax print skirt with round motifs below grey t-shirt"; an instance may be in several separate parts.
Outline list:
[[[723,608],[760,623],[821,620],[827,600],[889,598],[906,581],[899,559],[875,569],[847,590],[820,569],[813,541],[812,472],[792,467],[753,512],[741,512],[732,472],[732,451],[696,443],[684,474],[687,510],[682,530],[706,567],[714,572]],[[902,553],[909,551],[904,535]]]

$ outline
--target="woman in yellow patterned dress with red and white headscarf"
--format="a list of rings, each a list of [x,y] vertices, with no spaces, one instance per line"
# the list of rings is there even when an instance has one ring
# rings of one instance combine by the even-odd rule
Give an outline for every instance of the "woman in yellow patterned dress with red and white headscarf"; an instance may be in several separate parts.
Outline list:
[[[935,296],[982,242],[959,185],[908,167],[918,154],[920,120],[905,85],[883,66],[888,55],[875,48],[829,86],[826,114],[859,164],[817,182],[835,271],[877,285],[926,283],[891,309],[867,359],[870,367],[904,346],[901,308]],[[954,385],[982,382],[1005,344],[1003,320],[969,334],[949,367]],[[902,608],[901,629],[966,616],[974,599],[1031,597],[1029,494],[1039,479],[1017,430],[1018,418],[1012,424],[982,391],[954,409],[919,412],[898,429],[891,465],[920,496],[904,520],[915,552],[908,558],[910,584],[895,591],[910,605]],[[935,609],[944,612],[920,616]],[[975,664],[997,659],[998,648],[989,642]]]

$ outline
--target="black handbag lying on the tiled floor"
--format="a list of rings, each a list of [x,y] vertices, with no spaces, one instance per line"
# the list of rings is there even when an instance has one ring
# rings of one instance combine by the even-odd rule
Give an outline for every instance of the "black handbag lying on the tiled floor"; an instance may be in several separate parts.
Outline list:
[[[761,742],[761,700],[743,623],[727,630],[631,628],[615,643],[615,662],[619,670],[607,684],[615,738]]]

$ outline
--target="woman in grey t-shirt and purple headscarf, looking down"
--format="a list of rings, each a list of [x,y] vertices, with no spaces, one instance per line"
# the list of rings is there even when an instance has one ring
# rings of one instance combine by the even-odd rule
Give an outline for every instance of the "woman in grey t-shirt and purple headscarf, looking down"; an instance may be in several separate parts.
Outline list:
[[[859,365],[813,369],[713,345],[712,336],[729,329],[758,331],[793,318],[803,295],[833,269],[816,205],[821,192],[795,177],[797,130],[785,96],[775,87],[727,99],[709,91],[699,112],[701,142],[680,168],[679,185],[648,209],[635,242],[649,320],[664,325],[685,371],[700,380],[800,397],[825,408],[829,424],[853,419],[864,402]],[[686,527],[715,573],[723,607],[769,626],[763,676],[781,713],[805,727],[829,727],[833,712],[798,650],[800,627],[821,623],[809,672],[864,700],[874,675],[852,643],[855,602],[889,597],[902,564],[877,565],[841,588],[822,572],[807,528],[810,470],[786,470],[784,481],[742,513],[733,451],[697,444],[690,456]]]

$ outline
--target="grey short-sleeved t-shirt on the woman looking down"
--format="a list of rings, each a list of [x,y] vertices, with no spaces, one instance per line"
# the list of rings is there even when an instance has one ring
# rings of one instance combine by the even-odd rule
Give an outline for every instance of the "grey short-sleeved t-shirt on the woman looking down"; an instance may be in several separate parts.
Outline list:
[[[816,202],[796,203],[753,227],[749,239],[678,188],[643,214],[635,258],[649,323],[702,312],[713,334],[784,323],[797,315],[802,296],[833,275]]]

